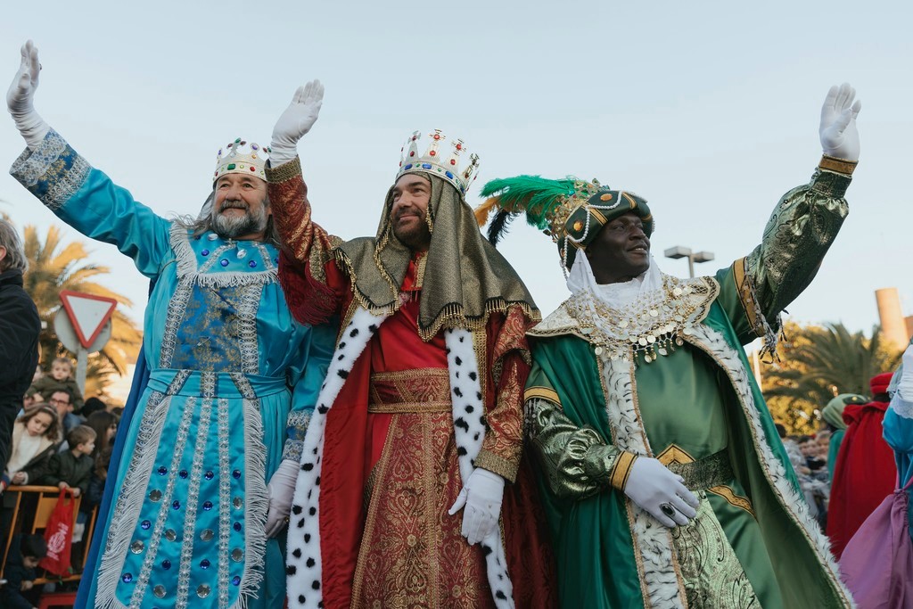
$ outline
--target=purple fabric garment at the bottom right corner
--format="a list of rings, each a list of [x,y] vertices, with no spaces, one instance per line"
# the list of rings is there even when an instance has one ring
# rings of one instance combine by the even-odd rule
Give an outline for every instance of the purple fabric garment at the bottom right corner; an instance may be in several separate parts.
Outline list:
[[[913,543],[908,534],[906,492],[909,486],[908,482],[888,495],[846,544],[840,571],[859,609],[913,606]]]

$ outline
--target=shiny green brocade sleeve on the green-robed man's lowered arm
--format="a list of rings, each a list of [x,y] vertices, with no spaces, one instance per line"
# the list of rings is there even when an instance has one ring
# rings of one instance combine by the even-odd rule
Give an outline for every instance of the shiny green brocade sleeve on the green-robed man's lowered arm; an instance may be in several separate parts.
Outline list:
[[[595,429],[575,425],[560,405],[540,398],[527,400],[525,426],[555,495],[584,499],[611,488],[621,451],[605,444]]]

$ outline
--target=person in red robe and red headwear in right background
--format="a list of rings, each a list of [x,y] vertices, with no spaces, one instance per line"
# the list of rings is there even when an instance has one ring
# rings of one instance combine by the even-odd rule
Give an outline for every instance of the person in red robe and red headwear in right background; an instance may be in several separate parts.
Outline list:
[[[837,560],[855,531],[897,483],[894,452],[881,428],[891,401],[887,395],[890,382],[891,373],[878,374],[870,383],[872,401],[844,408],[846,434],[837,453],[827,512],[827,536]]]

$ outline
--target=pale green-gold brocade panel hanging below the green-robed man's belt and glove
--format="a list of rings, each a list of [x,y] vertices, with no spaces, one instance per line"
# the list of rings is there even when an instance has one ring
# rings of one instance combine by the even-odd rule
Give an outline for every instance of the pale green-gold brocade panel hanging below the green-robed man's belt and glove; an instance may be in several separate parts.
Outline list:
[[[672,529],[687,604],[701,609],[760,609],[748,575],[729,545],[703,491],[698,516]]]

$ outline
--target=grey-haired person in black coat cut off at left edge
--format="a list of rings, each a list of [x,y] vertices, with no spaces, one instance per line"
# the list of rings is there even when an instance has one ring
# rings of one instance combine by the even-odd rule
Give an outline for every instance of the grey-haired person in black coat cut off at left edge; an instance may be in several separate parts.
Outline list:
[[[41,321],[22,289],[26,253],[16,230],[0,219],[0,464],[9,458],[16,415],[38,362]],[[0,479],[0,492],[9,480]]]

